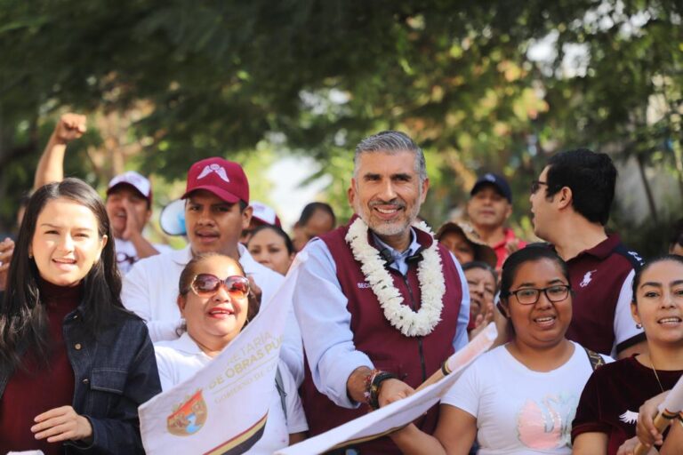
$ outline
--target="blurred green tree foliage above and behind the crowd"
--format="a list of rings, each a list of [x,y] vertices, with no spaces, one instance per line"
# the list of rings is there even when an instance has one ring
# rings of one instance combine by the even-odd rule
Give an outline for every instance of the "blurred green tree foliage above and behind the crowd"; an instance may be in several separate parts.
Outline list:
[[[588,145],[683,172],[683,28],[673,0],[0,5],[4,199],[28,186],[55,109],[139,102],[152,107],[131,132],[144,146],[143,172],[181,178],[194,160],[245,158],[266,141],[323,164],[340,208],[358,140],[405,130],[429,153],[425,214],[434,222],[462,203],[478,172],[493,170],[512,180],[517,221],[528,227],[527,184],[559,148]],[[542,44],[547,52],[534,57]],[[648,113],[654,103],[660,111]]]

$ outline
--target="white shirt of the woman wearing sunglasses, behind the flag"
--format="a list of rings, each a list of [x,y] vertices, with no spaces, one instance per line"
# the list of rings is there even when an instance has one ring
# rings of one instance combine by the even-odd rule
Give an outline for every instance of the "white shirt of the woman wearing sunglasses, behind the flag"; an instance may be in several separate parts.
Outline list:
[[[155,343],[154,351],[157,355],[157,368],[162,390],[168,390],[183,380],[189,379],[213,360],[205,355],[187,332],[183,333],[179,339]],[[273,381],[266,427],[261,439],[247,453],[271,454],[289,445],[289,435],[309,429],[292,373],[282,360],[277,364],[277,368],[280,370],[285,387],[286,419],[280,394],[277,393],[275,381]]]

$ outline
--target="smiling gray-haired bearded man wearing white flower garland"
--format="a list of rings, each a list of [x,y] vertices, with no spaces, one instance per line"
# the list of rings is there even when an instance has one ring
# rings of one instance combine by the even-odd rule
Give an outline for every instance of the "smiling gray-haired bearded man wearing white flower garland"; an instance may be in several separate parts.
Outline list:
[[[424,155],[403,132],[362,140],[354,156],[350,224],[303,250],[294,311],[308,368],[302,401],[311,435],[410,395],[467,343],[470,296],[454,256],[426,225]],[[437,409],[416,423],[432,433]],[[400,453],[388,437],[356,444]]]

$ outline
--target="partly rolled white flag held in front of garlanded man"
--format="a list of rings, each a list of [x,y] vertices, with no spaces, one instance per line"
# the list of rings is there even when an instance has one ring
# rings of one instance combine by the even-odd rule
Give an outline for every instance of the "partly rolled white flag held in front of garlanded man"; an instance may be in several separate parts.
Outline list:
[[[495,324],[490,323],[484,331],[479,333],[475,339],[472,339],[470,344],[448,358],[447,364],[451,371],[450,374],[436,383],[422,388],[422,390],[414,395],[391,403],[377,411],[372,411],[358,419],[351,420],[341,427],[333,428],[322,435],[317,435],[302,443],[277,451],[276,454],[308,455],[322,453],[336,446],[343,447],[353,443],[369,441],[383,435],[388,435],[398,428],[405,427],[414,419],[422,416],[434,404],[438,403],[441,397],[446,394],[448,388],[460,378],[462,371],[494,344],[497,334]]]

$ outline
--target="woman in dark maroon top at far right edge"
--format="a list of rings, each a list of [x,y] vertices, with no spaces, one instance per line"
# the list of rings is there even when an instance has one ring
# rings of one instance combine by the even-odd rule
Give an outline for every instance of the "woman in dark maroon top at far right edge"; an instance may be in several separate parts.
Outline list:
[[[640,405],[671,389],[683,374],[683,258],[653,259],[636,273],[631,315],[645,331],[648,352],[591,376],[572,429],[577,454],[617,453],[636,435]],[[660,453],[683,453],[681,424],[673,419],[671,425]]]

